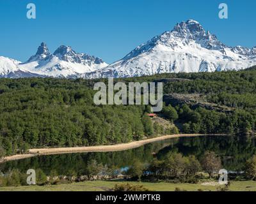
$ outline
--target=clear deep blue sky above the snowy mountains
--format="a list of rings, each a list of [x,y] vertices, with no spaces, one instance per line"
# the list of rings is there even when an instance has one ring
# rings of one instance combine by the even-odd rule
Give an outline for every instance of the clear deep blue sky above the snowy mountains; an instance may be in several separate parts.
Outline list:
[[[35,3],[36,19],[26,18]],[[228,4],[228,19],[218,5]],[[114,62],[150,38],[193,18],[230,46],[256,46],[256,1],[1,0],[0,55],[26,61],[42,41],[51,52],[70,45]]]

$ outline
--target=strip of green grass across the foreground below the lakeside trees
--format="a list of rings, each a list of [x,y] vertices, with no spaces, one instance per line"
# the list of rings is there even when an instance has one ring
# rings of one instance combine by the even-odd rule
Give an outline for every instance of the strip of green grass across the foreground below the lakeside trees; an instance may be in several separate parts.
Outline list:
[[[108,191],[115,184],[127,183],[118,181],[86,181],[72,184],[59,184],[54,186],[18,186],[0,187],[0,191]],[[140,184],[152,191],[175,191],[176,187],[186,191],[216,191],[217,186],[203,186],[202,184],[171,184],[166,182],[128,182],[130,184]],[[256,191],[256,182],[253,181],[233,181],[229,191]]]

